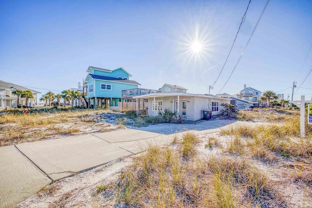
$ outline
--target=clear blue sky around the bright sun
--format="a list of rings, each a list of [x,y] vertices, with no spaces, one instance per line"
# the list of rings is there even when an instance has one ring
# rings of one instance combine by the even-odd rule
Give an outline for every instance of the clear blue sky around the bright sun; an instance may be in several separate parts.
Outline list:
[[[171,83],[208,93],[248,2],[1,0],[0,80],[58,93],[76,87],[89,65],[123,67],[142,88]],[[230,76],[265,3],[252,0],[212,94]],[[221,93],[236,94],[246,84],[260,91],[289,88],[278,92],[287,99],[292,82],[299,87],[312,66],[312,51],[303,66],[312,44],[311,11],[311,0],[271,0]],[[192,56],[196,37],[203,50]],[[294,99],[312,96],[312,74],[302,87]]]

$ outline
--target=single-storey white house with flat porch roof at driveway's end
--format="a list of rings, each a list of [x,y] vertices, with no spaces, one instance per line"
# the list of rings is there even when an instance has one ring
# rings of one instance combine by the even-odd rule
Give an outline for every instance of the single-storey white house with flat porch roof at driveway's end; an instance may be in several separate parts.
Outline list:
[[[202,119],[203,110],[211,110],[212,115],[221,114],[221,104],[230,103],[230,99],[228,98],[182,92],[162,93],[158,91],[157,93],[138,95],[133,98],[148,100],[148,115],[157,115],[159,112],[169,109],[170,111],[177,112],[184,120],[192,121]]]

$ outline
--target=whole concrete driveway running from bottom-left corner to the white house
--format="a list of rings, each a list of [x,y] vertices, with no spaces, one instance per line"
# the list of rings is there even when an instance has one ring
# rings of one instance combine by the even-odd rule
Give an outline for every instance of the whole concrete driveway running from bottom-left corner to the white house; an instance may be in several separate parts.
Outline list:
[[[209,133],[233,122],[216,119],[152,125],[0,147],[0,207],[16,206],[52,180],[136,154],[150,144],[169,144],[172,133]]]

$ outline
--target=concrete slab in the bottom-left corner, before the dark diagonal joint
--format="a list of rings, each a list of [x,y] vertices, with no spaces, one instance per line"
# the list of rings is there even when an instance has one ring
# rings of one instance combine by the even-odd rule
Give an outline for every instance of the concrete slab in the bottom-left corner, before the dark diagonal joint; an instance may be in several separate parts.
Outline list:
[[[50,182],[14,146],[0,147],[0,207],[15,207]]]

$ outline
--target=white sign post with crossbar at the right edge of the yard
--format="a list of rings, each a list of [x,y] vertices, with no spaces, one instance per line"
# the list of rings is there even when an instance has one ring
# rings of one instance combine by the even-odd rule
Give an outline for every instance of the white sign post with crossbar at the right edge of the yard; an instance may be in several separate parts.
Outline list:
[[[312,103],[312,100],[305,100],[305,96],[301,95],[301,100],[290,101],[300,108],[300,135],[305,137],[305,104]],[[311,109],[311,110],[310,110]],[[312,104],[308,105],[308,124],[312,124]]]

